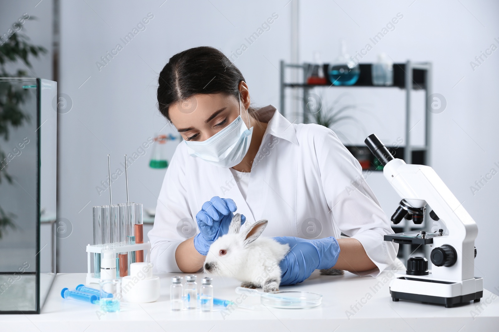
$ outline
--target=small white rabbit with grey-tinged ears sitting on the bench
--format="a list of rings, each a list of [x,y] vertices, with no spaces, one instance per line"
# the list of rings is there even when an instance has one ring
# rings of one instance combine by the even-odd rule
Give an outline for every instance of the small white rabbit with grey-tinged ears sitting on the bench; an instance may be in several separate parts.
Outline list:
[[[210,246],[205,272],[236,278],[242,282],[242,287],[278,291],[281,280],[279,262],[289,251],[289,245],[271,238],[258,238],[267,222],[265,219],[256,221],[240,232],[241,215],[236,214],[229,232]]]

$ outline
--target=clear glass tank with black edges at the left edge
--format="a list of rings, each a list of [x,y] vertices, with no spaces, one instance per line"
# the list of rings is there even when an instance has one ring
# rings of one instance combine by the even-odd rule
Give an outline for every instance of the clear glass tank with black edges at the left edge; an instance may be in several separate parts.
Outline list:
[[[0,78],[0,314],[39,314],[55,278],[57,83]]]

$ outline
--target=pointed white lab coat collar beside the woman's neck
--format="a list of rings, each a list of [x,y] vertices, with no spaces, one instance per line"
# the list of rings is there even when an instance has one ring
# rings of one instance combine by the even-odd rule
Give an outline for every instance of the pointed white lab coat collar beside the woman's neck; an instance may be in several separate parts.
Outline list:
[[[294,126],[274,106],[268,105],[262,107],[256,110],[256,113],[260,121],[268,122],[265,134],[269,133],[298,145]]]

